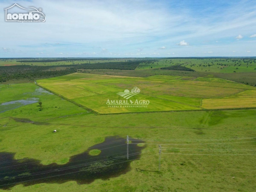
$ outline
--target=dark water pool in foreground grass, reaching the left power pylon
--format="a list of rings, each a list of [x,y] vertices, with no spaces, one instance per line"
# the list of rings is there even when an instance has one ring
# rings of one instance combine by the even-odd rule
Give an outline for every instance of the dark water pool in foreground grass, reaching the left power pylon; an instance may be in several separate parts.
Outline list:
[[[142,142],[142,141],[140,141]],[[126,159],[126,139],[107,137],[103,143],[88,148],[84,153],[70,157],[67,164],[42,165],[36,159],[14,160],[15,153],[0,153],[0,188],[10,189],[22,183],[24,186],[38,183],[64,183],[75,180],[88,184],[95,179],[107,180],[130,170],[132,160],[139,159],[145,147],[129,145],[129,160]],[[99,149],[98,156],[89,155]]]

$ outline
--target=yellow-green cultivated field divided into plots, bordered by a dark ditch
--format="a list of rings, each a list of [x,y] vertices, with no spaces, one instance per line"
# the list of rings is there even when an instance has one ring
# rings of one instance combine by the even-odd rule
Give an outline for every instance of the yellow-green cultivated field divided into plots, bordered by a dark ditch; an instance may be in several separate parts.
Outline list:
[[[255,87],[220,78],[74,73],[37,83],[100,114],[256,107]],[[131,98],[117,94],[133,87],[140,92]],[[108,105],[108,100],[125,103]],[[136,100],[150,103],[146,107],[133,107]]]

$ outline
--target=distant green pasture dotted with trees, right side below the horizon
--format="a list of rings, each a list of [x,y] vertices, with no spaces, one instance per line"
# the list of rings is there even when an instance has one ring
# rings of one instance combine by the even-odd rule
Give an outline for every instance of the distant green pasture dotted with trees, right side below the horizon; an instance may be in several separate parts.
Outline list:
[[[195,71],[217,73],[256,72],[256,59],[239,58],[189,58],[189,59],[157,59],[151,63],[141,63],[136,69],[163,68],[181,65]]]

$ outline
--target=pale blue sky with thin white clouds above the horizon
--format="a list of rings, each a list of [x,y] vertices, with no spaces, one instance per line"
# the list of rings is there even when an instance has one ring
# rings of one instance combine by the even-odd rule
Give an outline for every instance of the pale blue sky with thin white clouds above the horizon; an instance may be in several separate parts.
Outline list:
[[[44,23],[5,22],[14,3]],[[0,0],[3,57],[256,56],[255,0]]]

